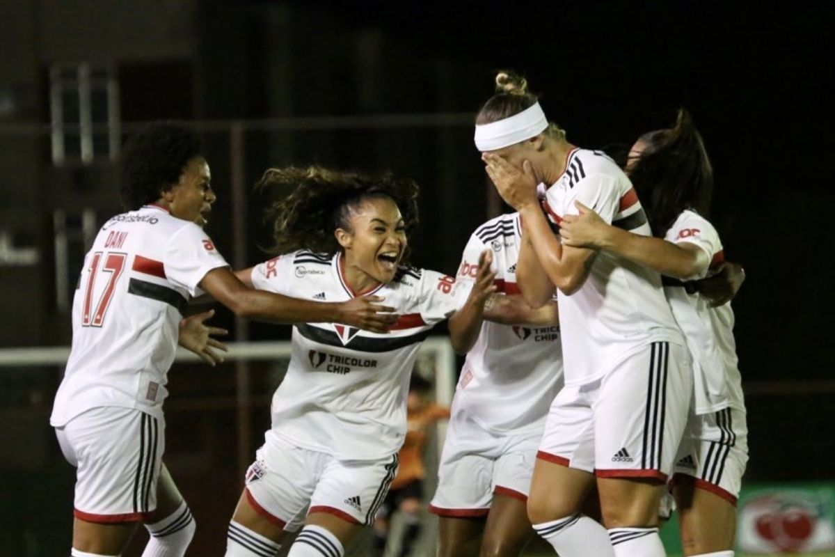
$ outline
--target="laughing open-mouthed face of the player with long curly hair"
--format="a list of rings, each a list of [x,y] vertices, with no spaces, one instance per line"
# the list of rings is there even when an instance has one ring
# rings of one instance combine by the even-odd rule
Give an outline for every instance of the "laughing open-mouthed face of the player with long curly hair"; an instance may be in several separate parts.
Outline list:
[[[345,278],[356,292],[392,281],[406,251],[406,227],[397,204],[388,197],[363,200],[352,211],[350,230],[339,228],[345,251]]]

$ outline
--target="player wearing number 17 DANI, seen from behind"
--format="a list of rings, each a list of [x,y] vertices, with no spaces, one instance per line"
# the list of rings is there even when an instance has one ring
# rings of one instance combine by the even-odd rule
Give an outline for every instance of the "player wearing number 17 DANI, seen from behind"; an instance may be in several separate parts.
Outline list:
[[[150,533],[144,557],[175,557],[195,524],[162,463],[162,405],[190,296],[205,291],[239,316],[271,322],[385,331],[392,317],[373,298],[323,303],[242,284],[202,229],[215,192],[189,129],[158,123],[134,135],[119,178],[128,212],[104,223],[84,257],[50,423],[77,468],[73,556],[119,555],[142,522]]]

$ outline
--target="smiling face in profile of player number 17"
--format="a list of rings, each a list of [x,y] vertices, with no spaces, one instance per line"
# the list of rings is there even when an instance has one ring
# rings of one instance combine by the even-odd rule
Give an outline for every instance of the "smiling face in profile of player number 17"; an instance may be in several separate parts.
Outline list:
[[[209,222],[211,205],[216,199],[215,191],[211,189],[209,163],[201,156],[190,159],[183,167],[180,182],[163,193],[171,215],[200,226]]]

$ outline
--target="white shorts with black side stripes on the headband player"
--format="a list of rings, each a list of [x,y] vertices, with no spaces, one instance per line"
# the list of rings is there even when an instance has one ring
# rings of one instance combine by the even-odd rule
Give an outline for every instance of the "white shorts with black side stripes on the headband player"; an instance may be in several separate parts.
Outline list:
[[[551,404],[537,458],[598,478],[664,481],[692,389],[686,347],[653,342],[599,380],[564,387]]]

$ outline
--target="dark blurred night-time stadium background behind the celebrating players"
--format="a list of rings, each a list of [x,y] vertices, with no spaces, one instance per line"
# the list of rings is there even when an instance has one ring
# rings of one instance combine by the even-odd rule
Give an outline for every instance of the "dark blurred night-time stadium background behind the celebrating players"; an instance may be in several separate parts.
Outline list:
[[[269,166],[316,163],[417,180],[413,261],[453,272],[474,227],[504,210],[471,127],[504,67],[527,74],[575,144],[629,144],[679,106],[694,114],[713,220],[748,276],[734,301],[751,432],[739,549],[833,554],[833,14],[824,2],[0,3],[0,554],[68,553],[73,470],[48,427],[63,372],[48,347],[68,345],[83,252],[119,210],[126,135],[153,119],[200,129],[219,197],[210,234],[235,266],[261,261],[268,240],[251,185]],[[239,342],[289,336],[217,321]],[[10,352],[22,347],[34,362]],[[280,378],[278,356],[171,372],[166,461],[197,519],[190,555],[223,553]]]

